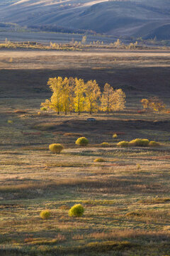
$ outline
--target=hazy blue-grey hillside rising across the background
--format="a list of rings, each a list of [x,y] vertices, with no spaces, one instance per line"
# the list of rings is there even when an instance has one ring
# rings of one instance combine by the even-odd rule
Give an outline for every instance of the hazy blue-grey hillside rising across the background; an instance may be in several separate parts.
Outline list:
[[[2,0],[0,22],[54,31],[169,38],[169,0]],[[164,32],[162,32],[162,30]]]

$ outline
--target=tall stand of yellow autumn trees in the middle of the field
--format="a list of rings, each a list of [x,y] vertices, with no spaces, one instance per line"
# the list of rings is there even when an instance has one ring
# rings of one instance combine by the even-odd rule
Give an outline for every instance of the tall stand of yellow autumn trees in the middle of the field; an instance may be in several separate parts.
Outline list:
[[[84,82],[77,78],[50,78],[47,82],[52,91],[50,100],[45,100],[42,109],[55,110],[60,112],[113,112],[125,108],[125,92],[113,90],[113,87],[106,83],[101,93],[96,80]]]

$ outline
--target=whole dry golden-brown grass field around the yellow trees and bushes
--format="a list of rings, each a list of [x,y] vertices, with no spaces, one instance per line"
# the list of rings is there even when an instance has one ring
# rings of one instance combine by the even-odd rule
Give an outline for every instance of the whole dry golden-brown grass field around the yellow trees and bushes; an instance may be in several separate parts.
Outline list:
[[[170,255],[170,114],[137,111],[148,95],[169,107],[169,53],[1,51],[0,68],[0,255]],[[38,114],[57,75],[124,86],[127,108],[96,122]],[[75,144],[82,136],[86,147]],[[161,146],[117,146],[135,138]],[[68,215],[75,203],[81,218]]]

